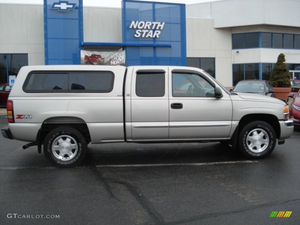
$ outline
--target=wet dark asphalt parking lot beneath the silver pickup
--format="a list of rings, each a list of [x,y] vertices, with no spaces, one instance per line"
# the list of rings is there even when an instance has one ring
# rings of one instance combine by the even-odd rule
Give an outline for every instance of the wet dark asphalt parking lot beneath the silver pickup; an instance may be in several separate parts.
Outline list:
[[[299,137],[259,161],[219,143],[90,144],[71,169],[0,137],[0,224],[299,224]]]

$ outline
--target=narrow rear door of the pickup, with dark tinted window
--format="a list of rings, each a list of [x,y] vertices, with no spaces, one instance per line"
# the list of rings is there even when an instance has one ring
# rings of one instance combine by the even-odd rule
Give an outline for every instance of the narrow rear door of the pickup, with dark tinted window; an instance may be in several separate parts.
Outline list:
[[[131,82],[132,140],[169,138],[168,67],[134,70]]]

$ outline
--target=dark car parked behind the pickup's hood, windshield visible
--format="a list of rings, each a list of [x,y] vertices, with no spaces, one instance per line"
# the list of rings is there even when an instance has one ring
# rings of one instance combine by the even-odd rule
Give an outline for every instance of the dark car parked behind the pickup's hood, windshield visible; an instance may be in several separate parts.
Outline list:
[[[274,90],[266,80],[241,80],[231,91],[266,95],[275,98]]]

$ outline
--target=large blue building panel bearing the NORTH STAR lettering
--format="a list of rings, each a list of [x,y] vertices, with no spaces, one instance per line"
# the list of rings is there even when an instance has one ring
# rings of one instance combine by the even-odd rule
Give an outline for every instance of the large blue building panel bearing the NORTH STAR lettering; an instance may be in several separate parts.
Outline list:
[[[185,4],[123,0],[122,38],[127,66],[185,66]]]

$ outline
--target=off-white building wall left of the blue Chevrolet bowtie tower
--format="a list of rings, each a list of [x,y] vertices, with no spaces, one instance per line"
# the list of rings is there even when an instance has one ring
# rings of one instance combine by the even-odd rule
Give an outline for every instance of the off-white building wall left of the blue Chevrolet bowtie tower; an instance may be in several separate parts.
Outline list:
[[[0,53],[28,53],[29,65],[44,65],[43,5],[0,4]]]

